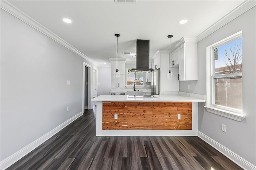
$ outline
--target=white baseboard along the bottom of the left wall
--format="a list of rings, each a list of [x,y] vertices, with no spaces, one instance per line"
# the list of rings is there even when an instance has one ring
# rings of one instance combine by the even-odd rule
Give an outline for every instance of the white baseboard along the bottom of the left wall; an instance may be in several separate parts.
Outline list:
[[[6,168],[8,168],[9,166],[11,166],[12,164],[14,164],[15,162],[17,162],[18,160],[20,160],[22,157],[24,157],[26,154],[28,154],[29,152],[31,152],[32,150],[34,150],[36,147],[38,147],[40,144],[44,143],[46,140],[48,140],[50,137],[52,137],[54,134],[56,134],[57,132],[59,132],[60,130],[62,130],[64,127],[66,127],[67,125],[69,125],[70,123],[72,123],[74,120],[76,120],[78,117],[83,115],[83,111],[78,113],[77,115],[75,115],[74,117],[68,119],[67,121],[65,121],[64,123],[62,123],[61,125],[59,125],[58,127],[52,129],[50,132],[44,134],[43,136],[41,136],[40,138],[38,138],[37,140],[35,140],[34,142],[28,144],[27,146],[25,146],[24,148],[20,149],[18,152],[12,154],[11,156],[9,156],[8,158],[2,160],[0,162],[0,169],[4,170]]]

